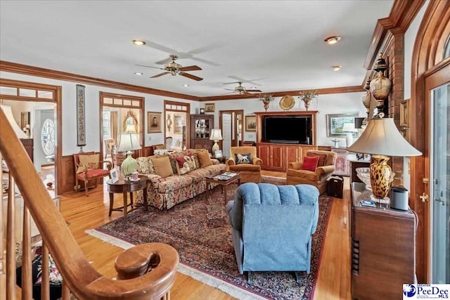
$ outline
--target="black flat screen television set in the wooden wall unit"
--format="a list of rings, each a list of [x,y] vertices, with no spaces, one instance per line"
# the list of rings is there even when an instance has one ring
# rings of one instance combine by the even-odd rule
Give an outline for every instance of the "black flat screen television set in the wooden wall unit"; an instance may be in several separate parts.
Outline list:
[[[266,116],[262,140],[269,143],[312,145],[312,116]]]

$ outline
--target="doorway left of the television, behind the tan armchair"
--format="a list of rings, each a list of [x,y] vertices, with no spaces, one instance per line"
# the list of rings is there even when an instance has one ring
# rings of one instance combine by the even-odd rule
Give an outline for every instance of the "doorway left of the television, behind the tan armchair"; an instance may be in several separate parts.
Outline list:
[[[219,126],[222,131],[221,149],[225,157],[230,157],[231,147],[239,146],[243,143],[244,110],[220,110]]]

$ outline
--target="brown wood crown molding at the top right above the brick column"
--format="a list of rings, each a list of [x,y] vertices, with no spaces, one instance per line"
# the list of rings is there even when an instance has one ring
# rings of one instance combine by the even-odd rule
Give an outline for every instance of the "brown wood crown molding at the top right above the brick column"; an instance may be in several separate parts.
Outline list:
[[[368,48],[364,68],[369,70],[375,59],[380,47],[385,41],[388,31],[392,34],[404,34],[408,30],[409,25],[416,18],[420,8],[425,4],[425,0],[395,0],[389,17],[378,20],[375,30],[373,31],[371,46]]]

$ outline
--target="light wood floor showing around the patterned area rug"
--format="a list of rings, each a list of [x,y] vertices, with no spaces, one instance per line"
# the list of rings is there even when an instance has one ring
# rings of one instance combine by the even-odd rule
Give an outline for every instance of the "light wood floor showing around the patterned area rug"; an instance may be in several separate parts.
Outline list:
[[[285,174],[264,171],[269,176],[285,177]],[[123,249],[102,242],[84,233],[122,216],[120,211],[113,211],[108,217],[109,195],[105,187],[98,185],[89,191],[68,193],[60,196],[61,214],[69,223],[69,228],[79,247],[99,273],[114,278],[114,260]],[[335,199],[328,222],[326,241],[323,248],[319,277],[316,283],[314,299],[351,299],[350,261],[349,261],[349,182],[345,181],[344,199]],[[115,206],[120,207],[120,195],[115,195]],[[237,268],[237,266],[236,266]],[[233,299],[219,289],[209,287],[202,282],[178,273],[171,290],[172,299]]]

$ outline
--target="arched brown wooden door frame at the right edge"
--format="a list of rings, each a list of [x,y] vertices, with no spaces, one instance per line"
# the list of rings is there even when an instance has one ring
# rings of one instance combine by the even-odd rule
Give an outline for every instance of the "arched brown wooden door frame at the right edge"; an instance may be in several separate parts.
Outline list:
[[[443,59],[444,44],[450,35],[449,1],[430,1],[420,23],[413,48],[411,65],[411,143],[423,152],[411,157],[411,209],[418,214],[416,230],[416,274],[418,282],[430,282],[430,201],[422,202],[420,196],[430,195],[428,173],[430,168],[430,99],[425,78],[450,64]],[[418,117],[425,115],[425,117]],[[428,170],[428,171],[427,171]],[[428,179],[428,180],[427,180]]]

